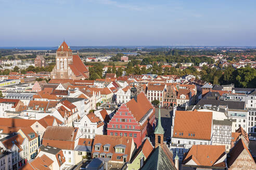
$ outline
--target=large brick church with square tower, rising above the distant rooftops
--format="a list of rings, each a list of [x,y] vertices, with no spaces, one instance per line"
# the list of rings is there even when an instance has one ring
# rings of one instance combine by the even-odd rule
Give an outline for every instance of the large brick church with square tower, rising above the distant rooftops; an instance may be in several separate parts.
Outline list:
[[[79,55],[73,55],[65,41],[56,51],[56,65],[50,73],[51,79],[84,80],[89,78],[89,70]]]

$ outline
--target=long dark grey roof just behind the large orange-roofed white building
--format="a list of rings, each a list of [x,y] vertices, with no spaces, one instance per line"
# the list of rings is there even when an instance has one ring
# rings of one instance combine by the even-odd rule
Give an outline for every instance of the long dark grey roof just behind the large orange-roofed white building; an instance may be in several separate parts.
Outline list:
[[[245,102],[237,102],[237,101],[220,101],[220,100],[212,100],[212,99],[202,99],[197,105],[200,106],[227,106],[229,109],[240,109],[244,110]]]

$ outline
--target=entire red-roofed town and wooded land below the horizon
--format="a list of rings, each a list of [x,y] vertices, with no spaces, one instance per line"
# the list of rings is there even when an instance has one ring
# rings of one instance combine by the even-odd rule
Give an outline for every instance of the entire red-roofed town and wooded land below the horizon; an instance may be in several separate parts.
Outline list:
[[[0,49],[0,169],[256,169],[256,48]]]

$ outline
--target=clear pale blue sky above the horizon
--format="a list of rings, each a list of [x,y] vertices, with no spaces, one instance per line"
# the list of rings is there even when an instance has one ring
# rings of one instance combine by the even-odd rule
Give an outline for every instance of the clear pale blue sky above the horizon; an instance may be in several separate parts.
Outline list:
[[[256,46],[256,1],[0,0],[0,47]]]

